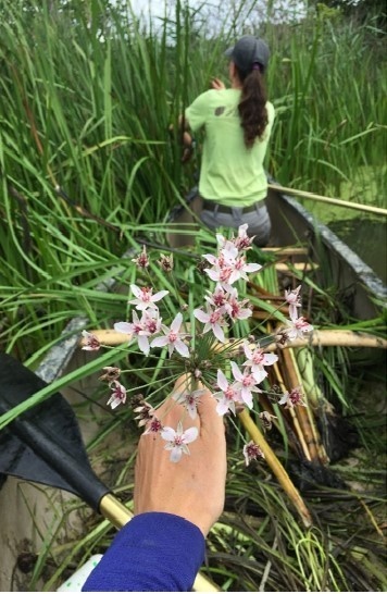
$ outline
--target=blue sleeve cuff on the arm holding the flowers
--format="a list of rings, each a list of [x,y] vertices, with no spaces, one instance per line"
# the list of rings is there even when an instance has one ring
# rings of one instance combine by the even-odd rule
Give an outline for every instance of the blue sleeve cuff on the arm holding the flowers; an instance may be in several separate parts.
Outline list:
[[[135,516],[120,530],[83,592],[188,592],[204,559],[204,536],[172,513]]]

